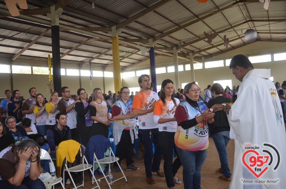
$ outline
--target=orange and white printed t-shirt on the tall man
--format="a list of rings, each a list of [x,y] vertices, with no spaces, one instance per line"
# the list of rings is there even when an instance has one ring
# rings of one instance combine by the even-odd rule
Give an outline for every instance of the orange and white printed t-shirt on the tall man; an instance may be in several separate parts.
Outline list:
[[[150,94],[144,93],[140,90],[134,95],[132,109],[149,110],[155,102],[159,100],[159,96],[156,92],[150,90]],[[153,112],[138,116],[139,129],[156,129],[158,124],[153,121]]]

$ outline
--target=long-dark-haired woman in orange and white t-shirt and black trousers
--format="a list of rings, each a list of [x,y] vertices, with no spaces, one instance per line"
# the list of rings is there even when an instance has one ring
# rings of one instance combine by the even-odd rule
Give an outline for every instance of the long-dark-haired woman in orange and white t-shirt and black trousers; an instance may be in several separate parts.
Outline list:
[[[154,123],[159,125],[159,145],[164,156],[164,173],[169,188],[176,188],[174,181],[181,184],[176,173],[182,165],[179,156],[173,163],[174,136],[177,131],[175,110],[180,103],[179,99],[174,98],[173,90],[173,82],[165,79],[161,85],[160,100],[155,102],[153,112]]]

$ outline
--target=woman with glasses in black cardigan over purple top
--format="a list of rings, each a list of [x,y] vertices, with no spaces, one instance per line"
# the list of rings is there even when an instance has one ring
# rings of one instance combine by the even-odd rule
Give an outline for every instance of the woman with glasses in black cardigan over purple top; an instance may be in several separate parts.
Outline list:
[[[89,104],[90,102],[86,100],[87,94],[86,90],[80,88],[77,90],[77,95],[80,97],[81,103],[75,103],[75,111],[77,111],[77,129],[80,132],[80,138],[83,146],[87,146],[92,132],[92,119],[90,117]]]

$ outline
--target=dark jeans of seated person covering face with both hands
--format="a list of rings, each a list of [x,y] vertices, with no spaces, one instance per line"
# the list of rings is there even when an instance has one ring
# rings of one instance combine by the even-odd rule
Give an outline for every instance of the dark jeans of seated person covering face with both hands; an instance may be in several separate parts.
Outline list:
[[[7,180],[0,180],[0,189],[46,189],[40,179],[31,180],[29,176],[24,177],[20,185],[11,185]]]

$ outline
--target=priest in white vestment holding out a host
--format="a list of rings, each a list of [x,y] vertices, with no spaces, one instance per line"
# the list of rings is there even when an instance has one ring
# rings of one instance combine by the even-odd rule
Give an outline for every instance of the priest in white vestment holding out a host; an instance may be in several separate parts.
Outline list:
[[[242,54],[234,56],[229,67],[241,82],[237,100],[224,110],[231,127],[230,138],[235,143],[229,188],[284,189],[285,124],[278,91],[269,79],[270,69],[254,69]],[[223,109],[221,104],[212,108]]]

